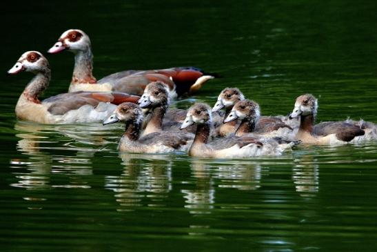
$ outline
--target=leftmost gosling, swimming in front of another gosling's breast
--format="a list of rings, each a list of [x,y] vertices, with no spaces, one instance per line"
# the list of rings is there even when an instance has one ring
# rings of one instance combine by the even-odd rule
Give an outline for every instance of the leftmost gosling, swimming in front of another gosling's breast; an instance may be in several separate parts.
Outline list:
[[[187,150],[190,139],[185,133],[155,132],[140,137],[143,112],[136,104],[120,104],[103,125],[125,123],[125,133],[119,142],[119,150],[129,153],[170,153]]]

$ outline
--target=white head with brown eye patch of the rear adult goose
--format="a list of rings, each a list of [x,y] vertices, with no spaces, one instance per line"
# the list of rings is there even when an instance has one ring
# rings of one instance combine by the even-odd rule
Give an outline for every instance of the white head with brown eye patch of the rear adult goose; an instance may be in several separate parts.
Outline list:
[[[63,32],[57,43],[48,50],[49,53],[58,53],[63,50],[69,50],[76,54],[90,50],[90,39],[88,35],[79,29],[70,29]]]

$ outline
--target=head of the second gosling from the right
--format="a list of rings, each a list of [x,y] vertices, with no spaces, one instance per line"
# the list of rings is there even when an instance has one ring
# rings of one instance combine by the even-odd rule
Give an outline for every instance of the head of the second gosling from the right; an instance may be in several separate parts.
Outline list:
[[[225,118],[224,122],[232,122],[236,119],[249,119],[253,122],[258,122],[259,117],[261,117],[259,105],[255,101],[244,99],[234,104],[232,111],[227,118]]]

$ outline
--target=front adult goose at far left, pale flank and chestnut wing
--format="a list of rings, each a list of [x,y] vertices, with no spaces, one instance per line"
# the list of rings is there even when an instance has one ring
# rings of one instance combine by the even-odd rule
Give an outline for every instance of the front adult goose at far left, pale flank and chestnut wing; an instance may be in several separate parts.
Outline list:
[[[125,93],[75,92],[56,95],[39,101],[39,95],[48,87],[51,70],[41,52],[25,52],[8,74],[33,72],[16,105],[18,119],[42,124],[69,124],[101,121],[123,101],[138,101],[139,97]],[[113,103],[113,104],[111,104]]]

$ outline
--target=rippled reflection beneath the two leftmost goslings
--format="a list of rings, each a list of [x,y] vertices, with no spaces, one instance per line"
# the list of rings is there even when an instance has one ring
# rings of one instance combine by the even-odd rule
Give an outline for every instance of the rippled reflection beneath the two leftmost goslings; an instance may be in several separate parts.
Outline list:
[[[138,207],[161,207],[172,190],[172,157],[120,153],[124,166],[119,176],[106,176],[105,188],[115,193],[118,211],[134,211]]]

